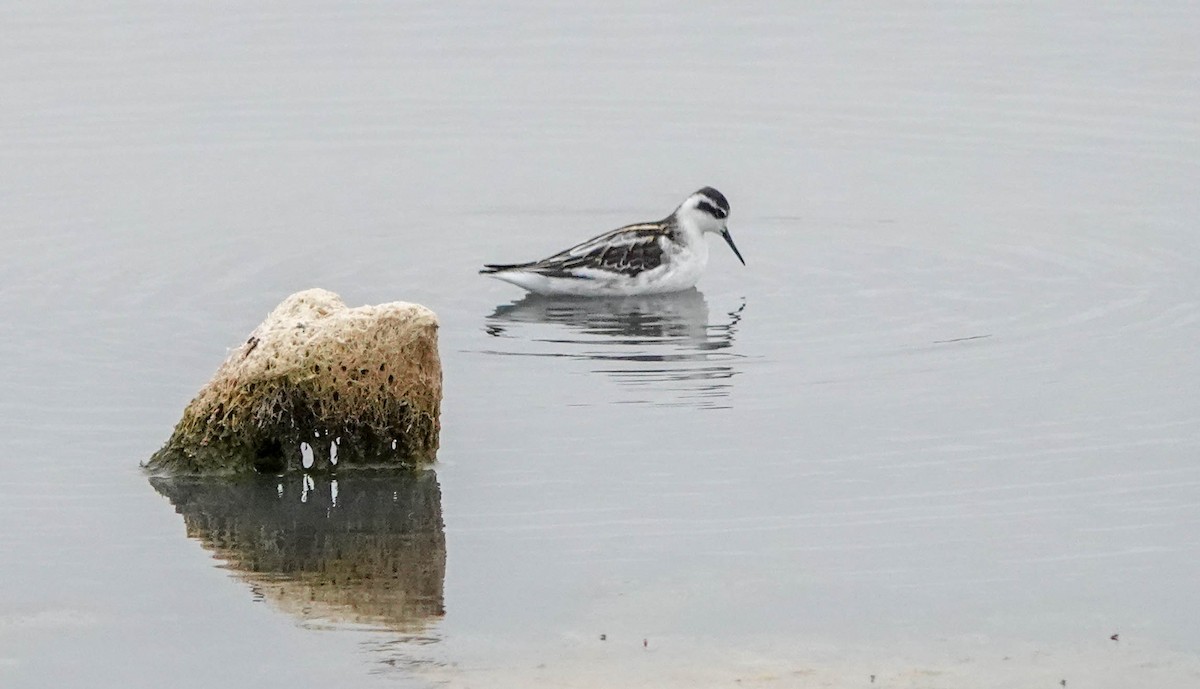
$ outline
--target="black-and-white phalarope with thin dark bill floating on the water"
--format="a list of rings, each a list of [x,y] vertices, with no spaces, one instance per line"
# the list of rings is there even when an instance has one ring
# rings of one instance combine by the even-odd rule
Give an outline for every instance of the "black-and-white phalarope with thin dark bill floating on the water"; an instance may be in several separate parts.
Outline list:
[[[480,272],[538,294],[619,296],[661,294],[695,287],[708,264],[704,233],[720,234],[745,265],[730,236],[730,202],[710,186],[689,196],[659,222],[629,224],[550,258]]]

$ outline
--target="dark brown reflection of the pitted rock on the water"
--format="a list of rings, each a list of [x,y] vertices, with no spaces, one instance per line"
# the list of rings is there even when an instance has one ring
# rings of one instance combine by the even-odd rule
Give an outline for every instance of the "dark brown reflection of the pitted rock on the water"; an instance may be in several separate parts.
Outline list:
[[[443,613],[437,475],[151,478],[193,538],[305,622],[419,631]]]

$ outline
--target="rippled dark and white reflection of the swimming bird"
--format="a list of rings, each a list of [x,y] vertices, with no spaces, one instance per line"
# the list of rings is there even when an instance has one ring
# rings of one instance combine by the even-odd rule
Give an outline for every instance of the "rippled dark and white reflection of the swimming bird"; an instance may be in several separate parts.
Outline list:
[[[738,375],[733,342],[744,308],[743,300],[710,320],[697,289],[600,299],[530,294],[498,306],[486,331],[508,344],[491,354],[592,363],[593,372],[638,390],[629,402],[722,408]]]

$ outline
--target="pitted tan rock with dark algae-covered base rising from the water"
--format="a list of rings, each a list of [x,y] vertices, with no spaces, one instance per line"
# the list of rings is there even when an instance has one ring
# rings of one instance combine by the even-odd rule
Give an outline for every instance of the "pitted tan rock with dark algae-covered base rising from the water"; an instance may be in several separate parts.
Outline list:
[[[420,465],[438,448],[438,320],[402,301],[348,308],[332,292],[288,296],[217,369],[146,463],[229,473]]]

